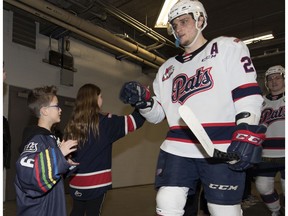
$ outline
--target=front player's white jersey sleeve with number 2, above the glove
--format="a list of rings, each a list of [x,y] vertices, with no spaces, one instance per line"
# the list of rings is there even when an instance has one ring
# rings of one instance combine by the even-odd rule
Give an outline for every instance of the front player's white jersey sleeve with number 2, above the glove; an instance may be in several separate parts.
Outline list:
[[[227,42],[227,41],[228,42]],[[250,112],[254,114],[259,123],[261,104],[263,99],[259,95],[259,86],[256,82],[256,70],[250,58],[247,46],[240,40],[230,38],[226,42],[227,77],[230,80],[232,97],[237,114]],[[220,45],[221,46],[221,45]],[[225,47],[225,46],[224,46]],[[258,97],[255,97],[258,95]],[[257,100],[257,102],[255,102]]]

